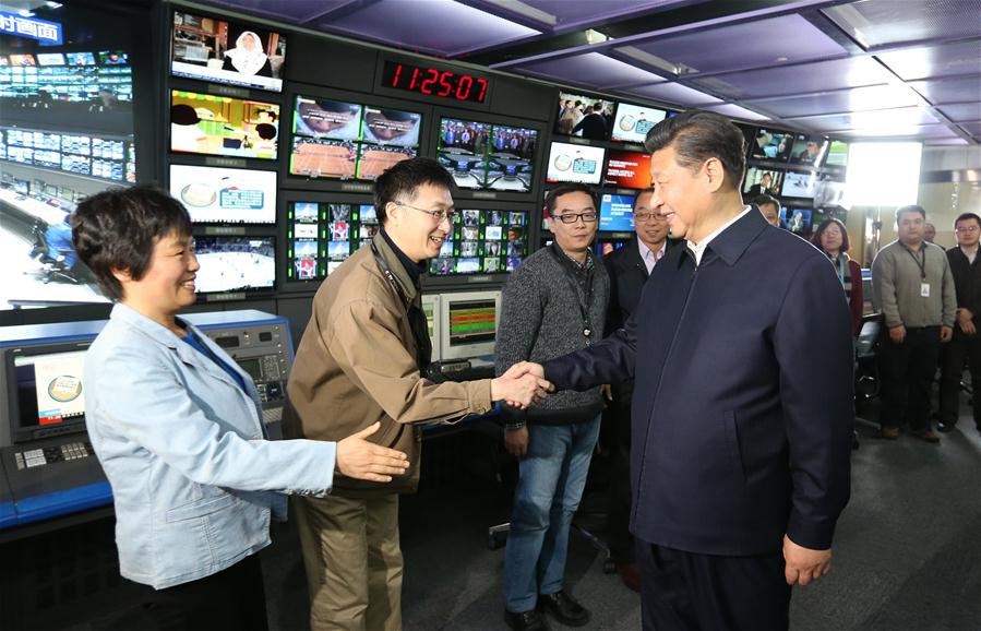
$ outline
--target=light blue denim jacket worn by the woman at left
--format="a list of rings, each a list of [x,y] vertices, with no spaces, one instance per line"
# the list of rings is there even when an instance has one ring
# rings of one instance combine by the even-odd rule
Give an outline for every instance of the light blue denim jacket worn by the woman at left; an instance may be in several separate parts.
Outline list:
[[[261,407],[165,326],[124,305],[85,358],[85,421],[116,504],[120,573],[159,590],[219,572],[270,544],[286,498],[323,496],[336,443],[262,440]]]

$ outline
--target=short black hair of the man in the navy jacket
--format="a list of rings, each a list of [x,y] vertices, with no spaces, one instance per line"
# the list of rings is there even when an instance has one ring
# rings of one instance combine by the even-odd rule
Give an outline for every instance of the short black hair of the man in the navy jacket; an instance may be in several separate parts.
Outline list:
[[[735,189],[746,172],[745,138],[720,114],[690,109],[660,121],[647,132],[644,147],[655,153],[668,146],[674,147],[675,162],[689,169],[718,158]]]

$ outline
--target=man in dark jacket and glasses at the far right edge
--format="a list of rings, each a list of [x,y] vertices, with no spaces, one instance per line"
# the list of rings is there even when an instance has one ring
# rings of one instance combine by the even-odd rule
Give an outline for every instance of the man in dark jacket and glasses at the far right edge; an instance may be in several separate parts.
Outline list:
[[[960,416],[960,376],[964,360],[971,369],[971,384],[981,385],[981,260],[978,259],[978,241],[981,237],[981,217],[964,213],[954,222],[957,247],[947,250],[954,288],[957,294],[957,322],[950,343],[941,352],[940,420],[936,428],[943,432],[954,429]],[[981,394],[973,396],[974,425],[981,431]]]

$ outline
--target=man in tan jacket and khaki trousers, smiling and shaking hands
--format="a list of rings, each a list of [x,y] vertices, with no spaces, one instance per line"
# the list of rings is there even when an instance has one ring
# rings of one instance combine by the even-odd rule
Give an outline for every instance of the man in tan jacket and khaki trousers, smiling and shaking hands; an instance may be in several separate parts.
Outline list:
[[[519,379],[432,383],[421,374],[430,341],[419,276],[453,224],[453,178],[438,162],[414,158],[375,181],[382,228],[313,299],[313,313],[290,374],[284,433],[338,440],[381,421],[370,438],[408,454],[410,466],[387,485],[335,474],[330,497],[295,503],[313,630],[402,628],[398,492],[419,480],[421,424],[454,422],[489,412],[494,401],[534,404],[550,384]]]

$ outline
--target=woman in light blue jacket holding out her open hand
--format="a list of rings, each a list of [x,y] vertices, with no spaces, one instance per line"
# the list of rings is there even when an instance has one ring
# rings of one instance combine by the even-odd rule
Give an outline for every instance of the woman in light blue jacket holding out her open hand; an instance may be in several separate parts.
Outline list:
[[[335,468],[388,481],[402,452],[366,439],[270,442],[251,378],[177,311],[195,301],[188,212],[149,187],[93,195],[72,240],[116,305],[85,359],[89,439],[112,487],[120,573],[158,628],[265,629],[259,550],[285,493],[324,496]],[[324,410],[326,414],[327,410]]]

